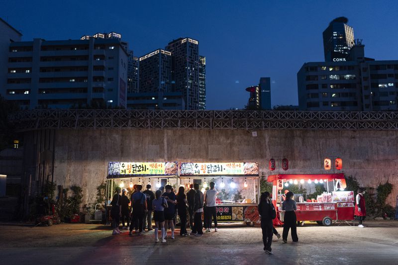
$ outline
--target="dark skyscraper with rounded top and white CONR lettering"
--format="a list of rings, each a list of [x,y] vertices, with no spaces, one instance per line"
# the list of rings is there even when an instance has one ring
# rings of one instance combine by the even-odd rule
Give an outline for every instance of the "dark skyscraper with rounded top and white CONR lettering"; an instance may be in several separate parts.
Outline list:
[[[354,46],[354,29],[347,25],[348,18],[333,19],[323,31],[323,50],[326,62],[345,61]]]

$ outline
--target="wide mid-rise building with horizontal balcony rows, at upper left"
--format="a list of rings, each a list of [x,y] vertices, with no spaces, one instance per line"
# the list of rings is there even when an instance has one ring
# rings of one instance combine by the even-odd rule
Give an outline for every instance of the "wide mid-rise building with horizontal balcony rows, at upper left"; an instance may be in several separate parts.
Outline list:
[[[30,109],[126,107],[128,55],[120,37],[10,43],[6,99]]]

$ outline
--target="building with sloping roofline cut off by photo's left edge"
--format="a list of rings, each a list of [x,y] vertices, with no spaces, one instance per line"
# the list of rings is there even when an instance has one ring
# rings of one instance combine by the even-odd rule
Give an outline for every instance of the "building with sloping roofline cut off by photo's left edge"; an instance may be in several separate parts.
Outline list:
[[[5,85],[7,84],[7,61],[8,54],[11,52],[9,45],[11,42],[21,41],[22,34],[10,24],[0,18],[0,94],[5,95]],[[22,71],[22,70],[18,70]]]

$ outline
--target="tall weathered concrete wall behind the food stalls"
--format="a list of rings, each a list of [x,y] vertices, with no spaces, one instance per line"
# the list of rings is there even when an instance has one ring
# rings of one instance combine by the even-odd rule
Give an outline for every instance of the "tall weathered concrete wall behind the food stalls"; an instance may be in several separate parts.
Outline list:
[[[362,186],[387,180],[394,184],[388,202],[398,195],[398,131],[382,130],[246,130],[208,129],[60,129],[56,131],[54,180],[84,188],[84,203],[94,202],[97,185],[106,179],[110,161],[258,162],[268,176],[268,160],[289,159],[285,174],[330,173],[325,157],[340,157],[346,176]]]

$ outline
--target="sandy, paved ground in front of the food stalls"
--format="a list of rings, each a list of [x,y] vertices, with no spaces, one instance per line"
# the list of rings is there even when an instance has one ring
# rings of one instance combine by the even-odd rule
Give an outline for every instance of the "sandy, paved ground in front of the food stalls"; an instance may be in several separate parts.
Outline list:
[[[176,239],[154,243],[152,232],[112,236],[103,225],[1,224],[0,264],[398,264],[398,222],[365,225],[298,227],[298,243],[275,238],[268,255],[258,227],[221,227],[203,237],[176,230]]]

